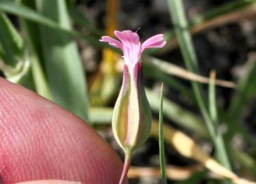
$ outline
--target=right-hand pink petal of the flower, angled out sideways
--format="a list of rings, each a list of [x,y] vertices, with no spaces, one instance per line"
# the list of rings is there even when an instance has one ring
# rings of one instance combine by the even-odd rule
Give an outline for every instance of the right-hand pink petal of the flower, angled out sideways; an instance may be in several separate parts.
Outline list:
[[[143,52],[146,48],[162,48],[165,44],[163,34],[154,35],[142,44],[140,52]]]

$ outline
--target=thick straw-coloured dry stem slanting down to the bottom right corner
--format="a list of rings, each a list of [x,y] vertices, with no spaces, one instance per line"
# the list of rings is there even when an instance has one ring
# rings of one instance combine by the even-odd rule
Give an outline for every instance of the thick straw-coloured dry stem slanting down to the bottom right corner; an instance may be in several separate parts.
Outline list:
[[[158,124],[157,121],[153,121],[151,135],[155,138],[158,138]],[[233,173],[231,170],[225,168],[219,164],[214,158],[205,153],[201,147],[192,140],[192,138],[183,134],[176,129],[168,125],[164,125],[164,140],[168,144],[172,144],[173,147],[184,157],[190,159],[195,159],[197,162],[203,164],[205,168],[211,170],[215,174],[218,174],[220,177],[225,177],[231,179],[234,183],[237,184],[256,184],[253,181],[248,181],[246,179],[241,179]]]

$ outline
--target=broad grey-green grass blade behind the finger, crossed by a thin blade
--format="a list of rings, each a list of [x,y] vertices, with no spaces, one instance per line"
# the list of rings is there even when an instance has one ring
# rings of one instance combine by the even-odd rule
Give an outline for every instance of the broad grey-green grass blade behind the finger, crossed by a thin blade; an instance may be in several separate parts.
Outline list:
[[[72,30],[65,1],[40,1],[40,12],[64,29]],[[44,64],[53,100],[82,119],[88,120],[88,95],[77,44],[66,33],[40,27]]]

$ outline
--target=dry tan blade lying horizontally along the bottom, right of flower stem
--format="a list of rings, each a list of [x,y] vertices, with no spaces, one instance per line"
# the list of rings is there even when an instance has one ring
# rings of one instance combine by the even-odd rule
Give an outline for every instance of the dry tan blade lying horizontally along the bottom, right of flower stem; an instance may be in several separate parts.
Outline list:
[[[194,172],[202,170],[200,165],[196,166],[166,166],[166,177],[173,180],[185,180],[194,174]],[[161,178],[161,170],[154,167],[131,167],[128,172],[128,177],[140,178],[140,177],[155,177]]]

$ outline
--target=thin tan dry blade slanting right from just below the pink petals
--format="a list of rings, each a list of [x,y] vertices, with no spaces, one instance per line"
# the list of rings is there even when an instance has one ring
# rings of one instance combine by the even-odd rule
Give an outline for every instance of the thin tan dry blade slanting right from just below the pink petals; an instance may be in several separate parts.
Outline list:
[[[153,57],[144,57],[146,62],[154,65],[154,67],[157,67],[159,70],[162,70],[163,72],[178,76],[180,78],[184,78],[186,80],[194,80],[196,82],[201,82],[208,84],[209,78],[200,76],[198,74],[194,74],[193,72],[190,72],[188,70],[183,69],[182,67],[179,67],[177,65],[174,65],[172,63],[168,63],[166,61],[162,61],[160,59],[156,59]],[[235,83],[230,82],[227,80],[215,80],[215,85],[221,86],[221,87],[228,87],[228,88],[235,88]]]

